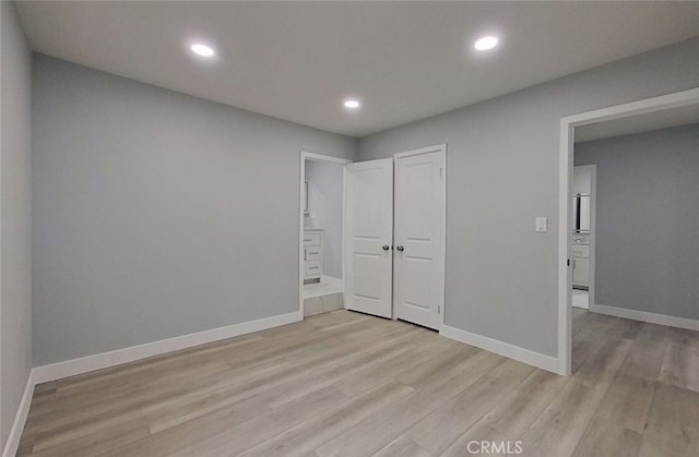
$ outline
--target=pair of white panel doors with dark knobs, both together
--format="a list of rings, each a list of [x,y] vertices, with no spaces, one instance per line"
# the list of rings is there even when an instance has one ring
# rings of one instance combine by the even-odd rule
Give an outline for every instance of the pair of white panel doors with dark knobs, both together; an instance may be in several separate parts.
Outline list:
[[[345,306],[439,328],[446,147],[346,166]]]

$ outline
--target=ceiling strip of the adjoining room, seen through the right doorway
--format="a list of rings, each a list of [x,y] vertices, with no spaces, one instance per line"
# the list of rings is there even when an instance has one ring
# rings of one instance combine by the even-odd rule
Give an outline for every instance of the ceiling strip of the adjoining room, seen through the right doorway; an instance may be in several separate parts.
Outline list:
[[[699,104],[576,128],[576,143],[699,123]]]

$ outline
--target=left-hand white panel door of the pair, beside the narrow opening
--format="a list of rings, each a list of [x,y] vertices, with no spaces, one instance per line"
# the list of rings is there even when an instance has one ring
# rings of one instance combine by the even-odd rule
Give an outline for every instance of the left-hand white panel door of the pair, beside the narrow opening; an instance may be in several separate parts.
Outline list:
[[[345,308],[391,317],[393,159],[345,167]]]

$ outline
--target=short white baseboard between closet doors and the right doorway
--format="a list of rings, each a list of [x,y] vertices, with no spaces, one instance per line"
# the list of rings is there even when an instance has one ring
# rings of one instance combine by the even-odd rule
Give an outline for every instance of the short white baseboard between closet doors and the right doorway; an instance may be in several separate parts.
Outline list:
[[[485,349],[509,359],[514,359],[526,363],[528,365],[560,374],[557,358],[520,348],[519,346],[510,345],[509,342],[488,338],[487,336],[476,335],[460,328],[450,327],[448,325],[442,326],[439,334],[447,338],[455,339],[457,341],[475,346],[476,348]]]

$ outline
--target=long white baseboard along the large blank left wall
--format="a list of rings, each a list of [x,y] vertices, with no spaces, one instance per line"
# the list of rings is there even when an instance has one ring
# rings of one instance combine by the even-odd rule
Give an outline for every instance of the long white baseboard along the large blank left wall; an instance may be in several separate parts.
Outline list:
[[[258,321],[244,322],[226,327],[213,328],[211,330],[199,332],[174,338],[162,339],[159,341],[146,342],[144,345],[117,349],[109,352],[82,357],[80,359],[67,360],[64,362],[52,363],[50,365],[37,366],[34,369],[34,382],[36,384],[48,381],[60,380],[61,377],[74,376],[122,363],[133,362],[147,357],[159,356],[193,346],[221,339],[233,338],[252,332],[264,330],[280,325],[292,324],[303,321],[300,311],[288,314],[280,314],[272,317],[264,317]]]

